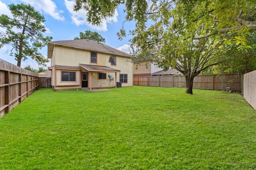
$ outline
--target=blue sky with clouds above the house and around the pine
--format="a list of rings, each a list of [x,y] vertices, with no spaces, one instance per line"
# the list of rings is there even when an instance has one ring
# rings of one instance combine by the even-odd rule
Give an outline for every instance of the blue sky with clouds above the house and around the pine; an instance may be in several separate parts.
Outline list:
[[[129,39],[130,36],[124,38],[122,41],[118,40],[116,33],[122,27],[123,21],[125,21],[125,15],[123,12],[124,6],[119,6],[116,9],[115,16],[103,20],[99,26],[91,25],[86,21],[86,11],[81,10],[74,12],[72,10],[74,1],[73,0],[0,0],[0,14],[6,14],[11,16],[8,10],[9,4],[30,4],[42,14],[45,19],[45,26],[47,28],[45,36],[52,36],[52,41],[58,40],[70,40],[79,35],[79,32],[84,32],[89,29],[91,31],[97,31],[106,39],[106,44],[129,53]],[[125,22],[124,28],[127,30],[134,28],[134,23]],[[0,28],[0,31],[3,31]],[[0,49],[0,59],[8,61],[13,64],[17,64],[14,57],[4,54],[8,49],[4,46]],[[43,55],[47,55],[47,47],[41,50]],[[33,68],[38,69],[38,64],[32,59],[22,61],[22,67],[30,65]],[[47,64],[50,66],[50,64]]]

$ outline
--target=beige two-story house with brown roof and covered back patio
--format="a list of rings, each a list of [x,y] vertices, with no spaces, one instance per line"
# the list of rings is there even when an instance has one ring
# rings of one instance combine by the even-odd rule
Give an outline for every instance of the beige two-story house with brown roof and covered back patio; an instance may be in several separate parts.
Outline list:
[[[132,86],[131,55],[88,39],[48,43],[55,90]]]

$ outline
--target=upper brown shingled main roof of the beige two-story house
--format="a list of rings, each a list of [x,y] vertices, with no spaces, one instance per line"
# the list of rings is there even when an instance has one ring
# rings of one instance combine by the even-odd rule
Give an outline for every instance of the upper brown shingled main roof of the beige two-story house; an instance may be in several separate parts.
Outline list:
[[[53,46],[51,44],[67,45],[70,47],[79,47],[86,50],[98,51],[102,53],[108,53],[113,55],[121,55],[125,57],[132,57],[132,55],[114,49],[108,45],[98,43],[89,39],[75,39],[75,40],[64,40],[64,41],[51,41],[48,43],[48,58],[51,58]]]

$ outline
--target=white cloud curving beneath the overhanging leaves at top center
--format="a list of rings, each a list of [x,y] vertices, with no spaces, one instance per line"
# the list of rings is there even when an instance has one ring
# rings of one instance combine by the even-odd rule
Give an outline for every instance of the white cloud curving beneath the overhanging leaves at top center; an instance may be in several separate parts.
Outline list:
[[[75,4],[74,1],[68,1],[68,0],[64,0],[65,1],[65,5],[66,8],[68,9],[68,11],[71,14],[71,19],[73,21],[74,24],[76,25],[88,25],[90,28],[95,29],[97,31],[107,31],[107,24],[108,23],[113,23],[113,22],[117,22],[117,10],[115,10],[115,14],[113,17],[108,17],[106,19],[102,19],[102,23],[100,23],[99,25],[92,25],[92,23],[88,23],[86,21],[86,19],[88,18],[86,16],[87,12],[85,10],[79,10],[78,12],[74,12],[73,10],[73,6]]]

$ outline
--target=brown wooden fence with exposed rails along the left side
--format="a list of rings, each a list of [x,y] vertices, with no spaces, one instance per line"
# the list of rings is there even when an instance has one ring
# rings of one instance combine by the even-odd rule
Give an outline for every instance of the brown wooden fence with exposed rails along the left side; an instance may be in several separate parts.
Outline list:
[[[0,117],[38,89],[38,74],[0,59]]]

